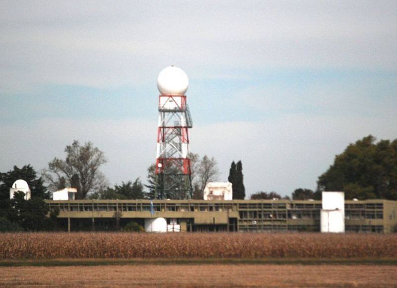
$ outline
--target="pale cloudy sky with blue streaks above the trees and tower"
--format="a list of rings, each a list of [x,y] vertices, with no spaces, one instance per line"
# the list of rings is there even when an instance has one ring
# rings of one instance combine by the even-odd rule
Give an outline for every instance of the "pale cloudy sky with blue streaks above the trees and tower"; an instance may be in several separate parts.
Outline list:
[[[349,143],[397,138],[397,1],[0,1],[0,172],[105,152],[155,162],[159,72],[189,77],[190,150],[247,197],[315,189]]]

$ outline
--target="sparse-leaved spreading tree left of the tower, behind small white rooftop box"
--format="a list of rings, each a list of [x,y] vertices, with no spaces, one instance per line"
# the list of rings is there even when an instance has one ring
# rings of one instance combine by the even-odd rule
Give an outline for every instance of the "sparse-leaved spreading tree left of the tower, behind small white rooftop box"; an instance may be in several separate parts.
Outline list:
[[[54,158],[43,171],[44,179],[52,191],[69,185],[77,188],[76,199],[84,199],[89,192],[98,192],[107,185],[99,168],[107,162],[104,153],[91,142],[80,146],[77,140],[65,148],[66,160]],[[65,181],[64,181],[64,180]]]

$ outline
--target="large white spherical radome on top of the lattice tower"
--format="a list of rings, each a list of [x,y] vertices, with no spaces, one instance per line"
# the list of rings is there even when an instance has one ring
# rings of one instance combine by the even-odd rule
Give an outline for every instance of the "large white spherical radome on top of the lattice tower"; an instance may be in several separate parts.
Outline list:
[[[157,88],[161,95],[185,95],[189,78],[181,68],[168,66],[157,77]]]

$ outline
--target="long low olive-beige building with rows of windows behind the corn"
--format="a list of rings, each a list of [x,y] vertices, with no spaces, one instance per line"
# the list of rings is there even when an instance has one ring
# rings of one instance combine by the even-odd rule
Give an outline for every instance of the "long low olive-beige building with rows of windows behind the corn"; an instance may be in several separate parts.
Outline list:
[[[46,200],[59,208],[66,231],[120,230],[131,221],[163,217],[182,232],[320,231],[318,200]],[[391,233],[397,225],[397,201],[346,200],[345,231]]]

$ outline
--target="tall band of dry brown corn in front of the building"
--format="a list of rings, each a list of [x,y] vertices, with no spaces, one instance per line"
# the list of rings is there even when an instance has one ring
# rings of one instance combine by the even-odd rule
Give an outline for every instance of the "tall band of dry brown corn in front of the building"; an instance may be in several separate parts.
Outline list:
[[[2,233],[0,260],[397,258],[397,234]]]

